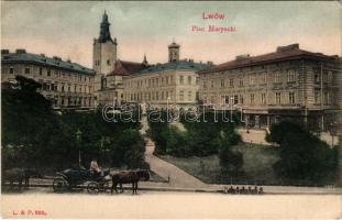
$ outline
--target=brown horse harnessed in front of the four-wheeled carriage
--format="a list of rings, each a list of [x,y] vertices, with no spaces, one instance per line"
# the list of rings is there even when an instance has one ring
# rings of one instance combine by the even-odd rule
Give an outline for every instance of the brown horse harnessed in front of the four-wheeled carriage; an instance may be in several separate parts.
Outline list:
[[[145,169],[139,170],[125,170],[125,172],[118,172],[111,175],[112,177],[112,187],[111,194],[113,190],[118,194],[117,186],[120,184],[121,193],[123,193],[122,184],[132,184],[132,194],[137,194],[137,182],[139,180],[148,180],[150,173]]]

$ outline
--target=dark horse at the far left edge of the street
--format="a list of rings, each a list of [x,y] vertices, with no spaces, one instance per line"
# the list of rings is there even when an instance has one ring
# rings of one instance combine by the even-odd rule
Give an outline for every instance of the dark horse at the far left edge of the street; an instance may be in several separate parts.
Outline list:
[[[18,182],[19,189],[22,188],[24,182],[25,188],[29,188],[30,177],[42,177],[42,175],[34,168],[10,168],[3,172],[2,182],[10,182],[10,187]]]

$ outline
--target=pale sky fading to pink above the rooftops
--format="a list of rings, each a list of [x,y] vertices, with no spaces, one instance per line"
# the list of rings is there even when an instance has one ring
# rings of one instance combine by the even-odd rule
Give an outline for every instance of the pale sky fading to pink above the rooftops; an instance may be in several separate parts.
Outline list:
[[[293,43],[328,55],[341,56],[342,51],[339,1],[1,1],[1,48],[25,48],[91,67],[104,10],[122,61],[142,62],[145,53],[148,63],[165,63],[173,40],[180,44],[180,58],[214,64]],[[224,14],[224,20],[205,20],[203,13]],[[234,26],[235,32],[194,32],[194,25]]]

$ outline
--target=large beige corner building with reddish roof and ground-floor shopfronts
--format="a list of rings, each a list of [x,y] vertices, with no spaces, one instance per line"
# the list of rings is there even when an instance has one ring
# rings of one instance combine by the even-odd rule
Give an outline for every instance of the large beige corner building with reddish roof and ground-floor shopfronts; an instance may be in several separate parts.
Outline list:
[[[247,127],[266,128],[279,119],[329,130],[342,107],[341,57],[307,52],[298,44],[198,72],[205,105],[242,111]]]

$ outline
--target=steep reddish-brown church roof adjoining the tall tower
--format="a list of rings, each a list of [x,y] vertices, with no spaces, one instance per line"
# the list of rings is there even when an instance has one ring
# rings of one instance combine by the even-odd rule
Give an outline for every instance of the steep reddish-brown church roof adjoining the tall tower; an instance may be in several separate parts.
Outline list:
[[[115,63],[115,69],[111,72],[108,76],[128,76],[141,72],[147,67],[148,66],[142,63],[118,61]]]

